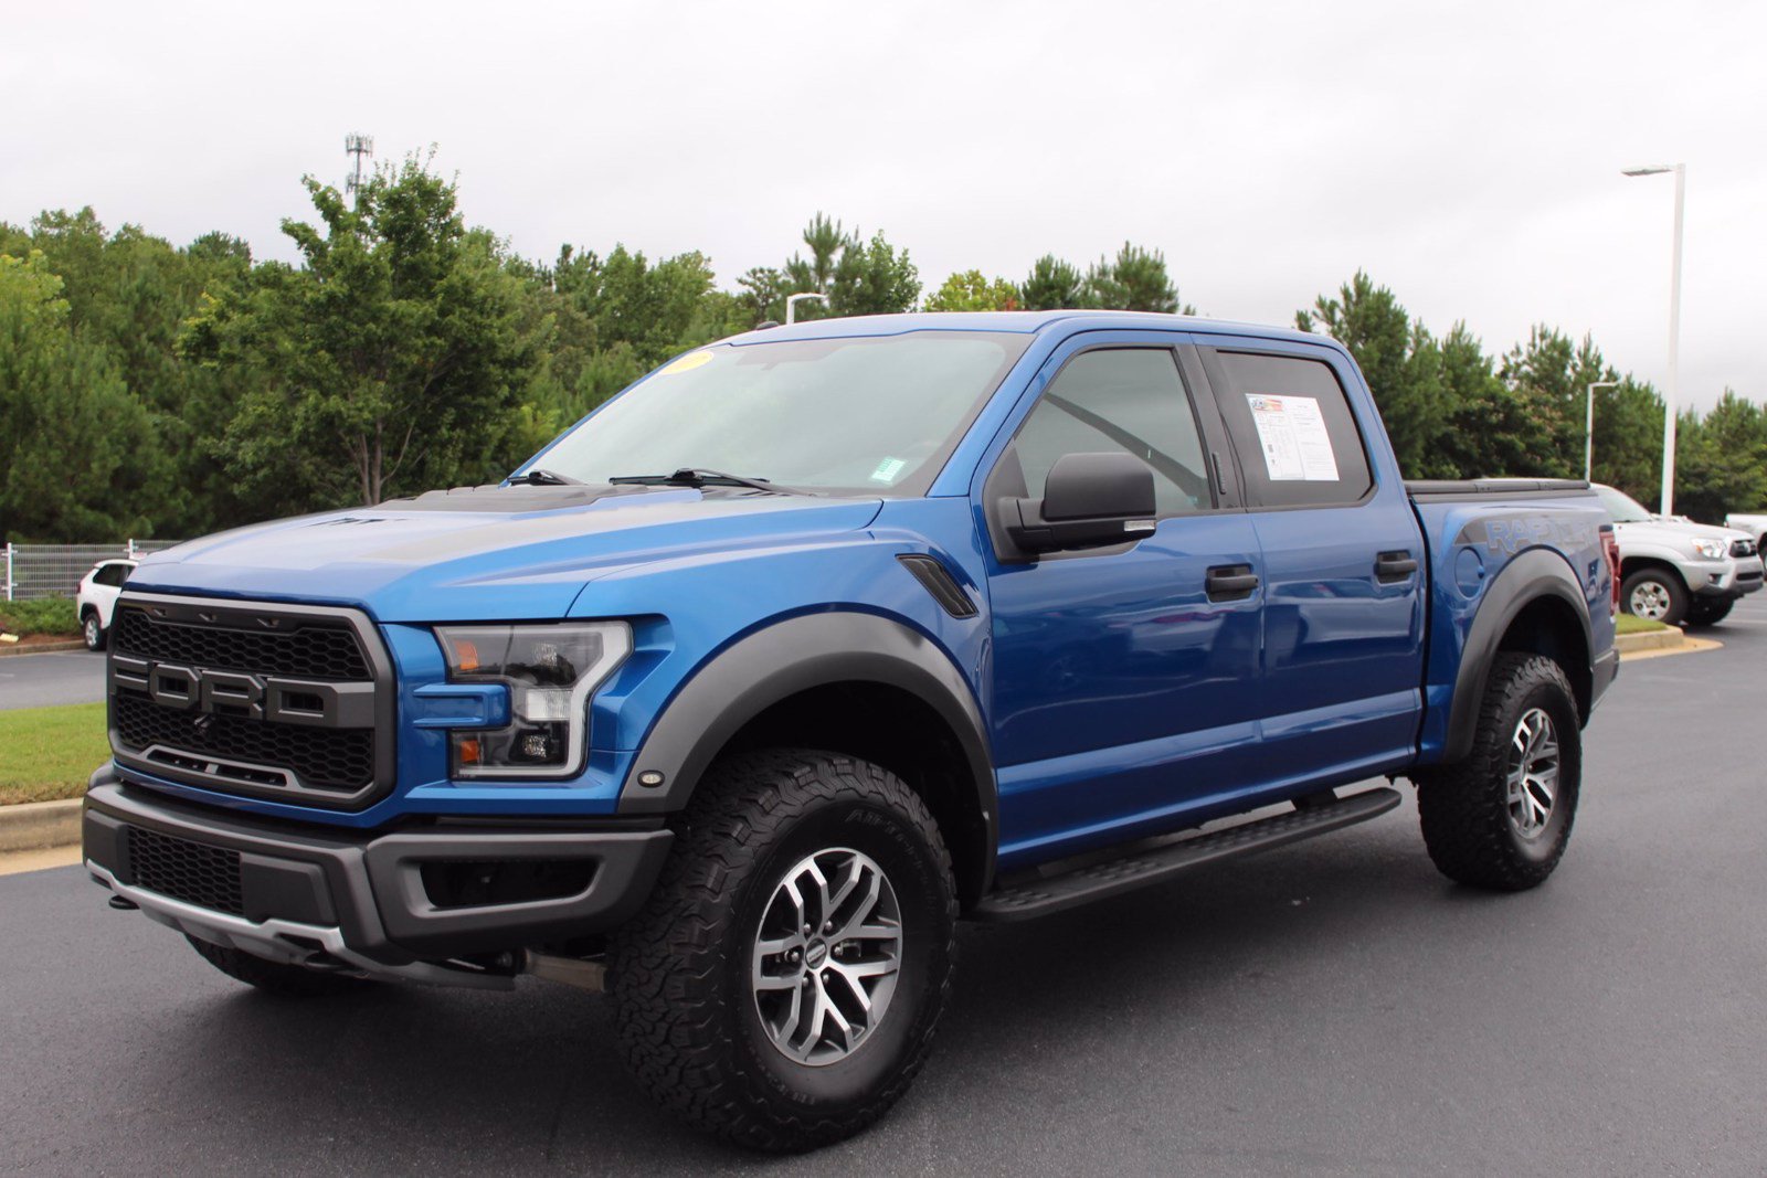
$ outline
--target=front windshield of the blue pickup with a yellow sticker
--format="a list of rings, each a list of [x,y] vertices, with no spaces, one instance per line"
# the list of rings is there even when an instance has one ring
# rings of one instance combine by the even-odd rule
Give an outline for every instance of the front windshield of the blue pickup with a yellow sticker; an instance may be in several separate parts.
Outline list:
[[[535,461],[583,482],[703,468],[788,489],[924,495],[1028,344],[944,330],[714,344],[657,369]]]

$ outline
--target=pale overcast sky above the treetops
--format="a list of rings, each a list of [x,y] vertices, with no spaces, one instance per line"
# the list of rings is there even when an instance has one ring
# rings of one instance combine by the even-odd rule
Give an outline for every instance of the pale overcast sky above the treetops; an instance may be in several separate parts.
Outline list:
[[[0,219],[92,205],[290,258],[299,178],[435,143],[518,253],[700,249],[816,210],[931,288],[1126,238],[1205,314],[1290,323],[1357,267],[1491,351],[1592,332],[1659,387],[1687,164],[1682,399],[1767,399],[1767,5],[37,4],[0,39]]]

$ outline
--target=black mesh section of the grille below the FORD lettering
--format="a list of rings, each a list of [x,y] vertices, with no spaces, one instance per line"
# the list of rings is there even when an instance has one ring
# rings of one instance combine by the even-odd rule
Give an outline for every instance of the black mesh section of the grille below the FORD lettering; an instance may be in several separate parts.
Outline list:
[[[184,712],[163,708],[145,694],[127,689],[118,689],[111,696],[111,724],[124,747],[134,752],[163,745],[177,752],[207,752],[267,768],[286,768],[309,789],[355,793],[375,782],[371,728],[307,728],[267,724],[223,712]],[[180,766],[177,759],[163,765]],[[223,770],[219,775],[230,774]],[[251,781],[237,774],[235,777]],[[279,779],[258,784],[279,784]]]

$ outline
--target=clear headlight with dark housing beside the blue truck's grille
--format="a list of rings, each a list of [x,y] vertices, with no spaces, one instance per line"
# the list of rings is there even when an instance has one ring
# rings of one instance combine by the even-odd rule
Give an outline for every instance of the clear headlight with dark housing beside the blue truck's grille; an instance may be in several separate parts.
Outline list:
[[[569,777],[588,747],[588,696],[633,650],[624,622],[438,625],[449,678],[509,687],[509,726],[452,733],[454,777]]]

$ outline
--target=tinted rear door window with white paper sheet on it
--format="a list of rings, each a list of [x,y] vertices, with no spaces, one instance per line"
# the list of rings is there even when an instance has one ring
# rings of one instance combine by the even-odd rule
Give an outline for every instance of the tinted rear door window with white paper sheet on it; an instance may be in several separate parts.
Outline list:
[[[1210,367],[1249,507],[1325,507],[1368,495],[1368,452],[1329,364],[1216,351]]]

